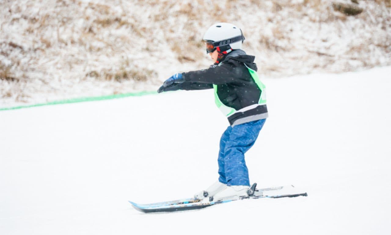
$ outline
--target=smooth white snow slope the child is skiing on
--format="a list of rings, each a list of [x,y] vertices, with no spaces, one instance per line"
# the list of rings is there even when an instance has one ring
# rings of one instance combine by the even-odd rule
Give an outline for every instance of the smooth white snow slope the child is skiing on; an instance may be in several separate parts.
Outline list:
[[[246,155],[259,187],[308,197],[142,214],[217,179],[228,122],[212,90],[0,113],[0,233],[390,234],[391,67],[265,79],[270,117]],[[190,108],[191,107],[191,108]]]

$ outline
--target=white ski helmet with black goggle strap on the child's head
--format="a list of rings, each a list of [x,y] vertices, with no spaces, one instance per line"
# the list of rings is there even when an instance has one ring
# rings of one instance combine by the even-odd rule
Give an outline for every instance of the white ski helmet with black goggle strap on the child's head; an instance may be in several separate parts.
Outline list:
[[[217,23],[209,27],[205,32],[203,40],[204,42],[213,42],[214,48],[230,45],[232,50],[242,49],[242,43],[244,41],[242,30],[236,25],[230,23]],[[212,51],[212,47],[210,51]],[[206,49],[207,53],[208,48]],[[213,49],[214,51],[214,49]]]

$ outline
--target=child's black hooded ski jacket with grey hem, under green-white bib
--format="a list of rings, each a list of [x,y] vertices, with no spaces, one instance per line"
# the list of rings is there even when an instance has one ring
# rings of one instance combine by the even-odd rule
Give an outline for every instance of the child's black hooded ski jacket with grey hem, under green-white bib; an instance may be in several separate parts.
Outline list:
[[[243,110],[228,116],[231,126],[264,119],[268,116],[267,107],[256,105],[261,90],[246,67],[247,65],[257,71],[254,59],[255,56],[246,55],[242,50],[234,50],[218,65],[212,65],[209,69],[182,73],[182,79],[185,80],[183,83],[174,83],[163,91],[213,89],[215,84],[217,95],[224,105],[237,111]],[[252,106],[249,107],[250,105]]]

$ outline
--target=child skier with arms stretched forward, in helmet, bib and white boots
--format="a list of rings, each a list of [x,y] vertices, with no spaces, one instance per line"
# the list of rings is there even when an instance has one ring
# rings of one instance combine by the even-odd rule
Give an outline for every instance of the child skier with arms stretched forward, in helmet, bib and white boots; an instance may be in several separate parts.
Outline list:
[[[241,29],[217,23],[204,34],[206,53],[215,63],[208,69],[177,73],[164,81],[158,92],[214,89],[215,103],[230,126],[220,139],[219,179],[197,199],[246,196],[250,182],[244,154],[254,145],[268,116],[265,86],[256,74],[255,56],[241,50]]]

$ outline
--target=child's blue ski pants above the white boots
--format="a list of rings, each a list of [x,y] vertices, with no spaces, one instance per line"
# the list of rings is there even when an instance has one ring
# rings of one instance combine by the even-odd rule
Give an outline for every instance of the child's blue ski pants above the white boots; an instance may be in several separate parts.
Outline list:
[[[219,181],[250,186],[244,154],[254,145],[266,119],[229,126],[220,139]]]

